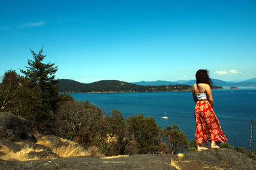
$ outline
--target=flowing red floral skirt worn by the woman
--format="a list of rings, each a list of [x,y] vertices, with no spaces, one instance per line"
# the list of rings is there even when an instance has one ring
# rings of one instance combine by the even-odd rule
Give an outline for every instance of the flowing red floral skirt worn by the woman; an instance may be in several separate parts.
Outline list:
[[[196,144],[202,145],[203,142],[216,141],[216,143],[227,142],[228,139],[223,134],[220,122],[216,117],[209,101],[197,101],[195,107],[196,120]]]

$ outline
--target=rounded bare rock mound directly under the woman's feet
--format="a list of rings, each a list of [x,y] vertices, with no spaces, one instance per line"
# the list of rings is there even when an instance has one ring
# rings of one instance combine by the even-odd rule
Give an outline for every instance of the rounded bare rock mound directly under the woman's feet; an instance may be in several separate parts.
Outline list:
[[[177,169],[256,169],[256,161],[234,150],[209,149],[186,153],[171,162]]]

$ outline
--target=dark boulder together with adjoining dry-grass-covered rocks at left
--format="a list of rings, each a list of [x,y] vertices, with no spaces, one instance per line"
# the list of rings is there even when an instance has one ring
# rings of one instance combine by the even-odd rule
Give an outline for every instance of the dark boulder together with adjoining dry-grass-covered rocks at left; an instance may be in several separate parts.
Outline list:
[[[36,138],[28,122],[12,113],[0,112],[0,159],[35,160],[86,156],[79,144],[56,136]]]

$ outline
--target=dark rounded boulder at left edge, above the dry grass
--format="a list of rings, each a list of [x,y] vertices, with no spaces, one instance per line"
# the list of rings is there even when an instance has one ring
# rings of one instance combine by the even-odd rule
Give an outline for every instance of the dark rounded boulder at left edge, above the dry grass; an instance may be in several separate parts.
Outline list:
[[[28,121],[8,112],[0,112],[0,139],[35,141]]]

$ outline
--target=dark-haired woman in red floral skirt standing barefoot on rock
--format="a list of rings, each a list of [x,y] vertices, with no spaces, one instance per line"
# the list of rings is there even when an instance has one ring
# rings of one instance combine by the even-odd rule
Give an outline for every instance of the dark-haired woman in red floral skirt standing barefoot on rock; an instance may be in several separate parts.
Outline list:
[[[212,81],[209,78],[206,69],[200,69],[196,72],[196,83],[192,87],[193,99],[196,103],[195,120],[196,120],[196,145],[197,150],[207,150],[202,143],[211,142],[211,148],[220,148],[218,143],[227,142],[223,134],[220,122],[216,117],[213,108],[212,98]]]

